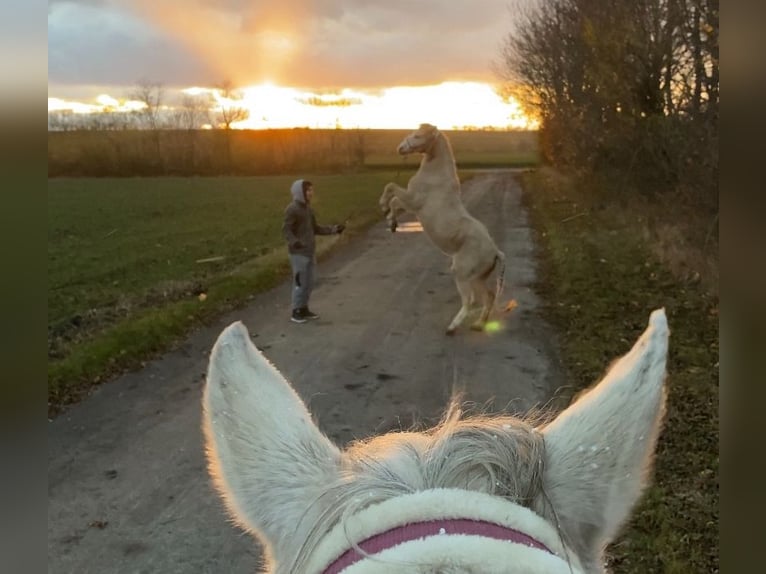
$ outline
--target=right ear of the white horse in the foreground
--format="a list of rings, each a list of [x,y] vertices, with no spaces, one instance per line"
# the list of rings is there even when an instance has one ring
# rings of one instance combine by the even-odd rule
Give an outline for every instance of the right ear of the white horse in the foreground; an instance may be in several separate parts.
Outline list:
[[[544,430],[544,485],[563,534],[598,556],[648,479],[664,416],[668,325],[654,311],[633,349]]]

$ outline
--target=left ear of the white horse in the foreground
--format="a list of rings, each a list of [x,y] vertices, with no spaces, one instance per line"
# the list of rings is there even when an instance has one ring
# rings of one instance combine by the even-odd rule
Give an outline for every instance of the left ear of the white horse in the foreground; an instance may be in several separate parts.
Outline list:
[[[240,322],[213,347],[203,411],[210,474],[230,513],[278,559],[290,556],[301,521],[321,511],[318,489],[337,479],[340,453]]]

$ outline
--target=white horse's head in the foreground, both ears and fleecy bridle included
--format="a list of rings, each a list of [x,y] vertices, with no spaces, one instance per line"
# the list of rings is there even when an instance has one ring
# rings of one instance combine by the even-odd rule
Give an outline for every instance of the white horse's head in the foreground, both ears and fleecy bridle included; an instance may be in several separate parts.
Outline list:
[[[460,418],[339,450],[241,323],[211,354],[210,471],[275,573],[593,573],[647,479],[668,327],[552,422]]]

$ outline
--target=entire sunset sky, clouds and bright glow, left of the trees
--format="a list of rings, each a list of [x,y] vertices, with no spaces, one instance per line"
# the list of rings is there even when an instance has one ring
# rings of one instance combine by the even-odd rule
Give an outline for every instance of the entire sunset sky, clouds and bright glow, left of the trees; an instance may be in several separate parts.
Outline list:
[[[124,103],[142,79],[161,82],[169,100],[229,79],[252,111],[239,127],[522,127],[492,71],[513,25],[509,5],[49,0],[49,110]]]

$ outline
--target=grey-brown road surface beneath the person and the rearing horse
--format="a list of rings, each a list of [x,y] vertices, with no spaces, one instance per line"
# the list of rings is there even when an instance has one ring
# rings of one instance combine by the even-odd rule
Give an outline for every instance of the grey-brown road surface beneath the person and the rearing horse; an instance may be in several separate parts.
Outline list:
[[[519,303],[496,313],[498,332],[446,337],[459,307],[448,259],[422,233],[390,234],[381,222],[320,263],[318,321],[290,323],[282,285],[48,425],[48,572],[256,571],[256,543],[227,522],[210,487],[200,432],[207,354],[232,321],[244,321],[339,444],[432,422],[453,384],[491,410],[547,401],[563,382],[530,288],[518,185],[490,172],[464,194],[506,253],[502,302]]]

